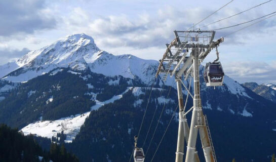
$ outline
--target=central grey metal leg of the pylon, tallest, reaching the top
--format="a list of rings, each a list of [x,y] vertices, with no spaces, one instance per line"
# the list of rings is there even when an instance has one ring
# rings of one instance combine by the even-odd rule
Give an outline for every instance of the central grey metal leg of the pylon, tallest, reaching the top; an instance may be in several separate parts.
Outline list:
[[[198,125],[198,112],[201,109],[201,98],[200,98],[200,74],[199,74],[199,49],[192,49],[192,59],[193,59],[193,87],[194,87],[194,97],[193,97],[193,111],[191,117],[191,127],[189,140],[187,145],[187,154],[185,161],[190,162],[194,160],[195,153],[195,143],[198,137],[198,129],[195,127]]]

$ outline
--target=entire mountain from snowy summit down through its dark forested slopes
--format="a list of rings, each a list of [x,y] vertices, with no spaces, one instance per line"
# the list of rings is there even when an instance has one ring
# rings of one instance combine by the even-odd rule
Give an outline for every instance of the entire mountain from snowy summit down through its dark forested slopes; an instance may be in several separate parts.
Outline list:
[[[82,161],[106,161],[103,157],[127,161],[126,155],[131,154],[133,136],[138,132],[158,64],[158,61],[133,55],[109,54],[100,50],[94,39],[85,34],[61,38],[50,46],[0,66],[3,77],[0,79],[0,123],[17,127],[24,134],[47,138],[64,132],[67,147],[82,157]],[[242,137],[265,139],[254,144],[272,148],[271,145],[276,144],[272,138],[276,133],[275,104],[251,91],[250,87],[257,88],[259,85],[240,85],[227,75],[224,86],[216,89],[207,87],[203,72],[204,67],[201,66],[202,106],[210,120],[216,152],[221,155],[218,158],[221,161],[233,157],[242,159],[239,154],[225,154],[232,148],[250,155],[251,159],[265,159],[271,154],[271,149],[260,152],[260,158],[254,156],[258,150],[247,152],[248,149],[244,148],[252,148],[252,142]],[[188,86],[187,81],[184,84]],[[162,135],[171,115],[174,115],[173,131],[168,137],[175,139],[178,112],[174,113],[174,108],[178,100],[174,77],[168,77],[165,85],[157,78],[153,86],[146,123],[150,123],[155,109],[157,114],[161,114],[166,106],[156,134]],[[170,86],[173,87],[171,92]],[[184,89],[183,93],[185,97],[187,92]],[[191,107],[191,103],[189,99],[187,108]],[[227,136],[228,142],[220,140],[223,136]],[[265,138],[259,138],[263,136]],[[154,139],[154,145],[160,138]],[[236,144],[236,138],[243,142]],[[176,147],[169,143],[171,141],[167,140],[166,144]],[[123,151],[112,154],[112,150]],[[171,147],[161,150],[169,151],[172,156],[175,151]],[[104,154],[106,151],[109,154]],[[162,158],[170,161],[171,157],[160,155],[156,160],[164,161]]]

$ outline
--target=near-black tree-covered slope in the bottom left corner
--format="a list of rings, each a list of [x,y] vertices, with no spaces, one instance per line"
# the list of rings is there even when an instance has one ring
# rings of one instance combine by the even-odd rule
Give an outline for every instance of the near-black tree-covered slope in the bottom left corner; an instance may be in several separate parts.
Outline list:
[[[52,143],[50,151],[43,151],[33,136],[24,136],[17,129],[0,125],[0,161],[78,161],[64,147]]]

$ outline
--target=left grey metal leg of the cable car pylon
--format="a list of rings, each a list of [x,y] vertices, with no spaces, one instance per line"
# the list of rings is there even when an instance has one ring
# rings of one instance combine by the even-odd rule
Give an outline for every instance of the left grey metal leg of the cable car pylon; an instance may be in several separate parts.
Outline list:
[[[175,162],[183,162],[184,155],[184,118],[183,118],[183,94],[181,87],[180,78],[175,78],[177,85],[177,95],[178,95],[178,104],[179,104],[179,125],[178,125],[178,137],[177,137],[177,148],[176,148],[176,157]],[[187,120],[187,119],[186,119]]]

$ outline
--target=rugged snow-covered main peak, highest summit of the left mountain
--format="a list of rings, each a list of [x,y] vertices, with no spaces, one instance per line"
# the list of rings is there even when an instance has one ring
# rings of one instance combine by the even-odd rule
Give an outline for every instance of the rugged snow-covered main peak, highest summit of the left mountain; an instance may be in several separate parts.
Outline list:
[[[49,64],[63,65],[99,50],[91,36],[84,33],[73,34],[58,39],[50,46],[27,53],[18,59],[16,63],[20,67],[37,67]]]

